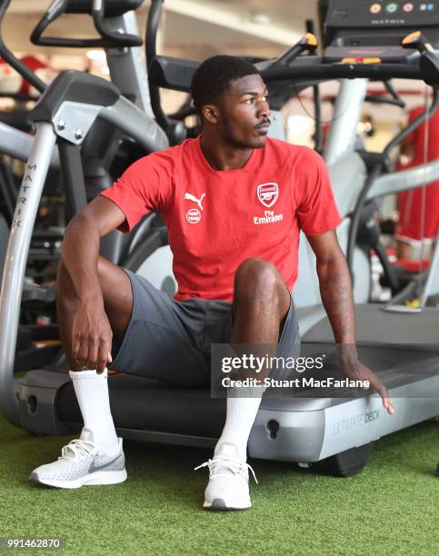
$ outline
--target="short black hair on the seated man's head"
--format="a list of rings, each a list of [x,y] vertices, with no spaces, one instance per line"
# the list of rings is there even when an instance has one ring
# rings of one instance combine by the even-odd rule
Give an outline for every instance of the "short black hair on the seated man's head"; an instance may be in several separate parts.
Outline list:
[[[221,94],[234,79],[245,75],[260,75],[259,71],[244,58],[216,55],[207,58],[195,71],[191,94],[198,114],[206,104],[218,102]]]

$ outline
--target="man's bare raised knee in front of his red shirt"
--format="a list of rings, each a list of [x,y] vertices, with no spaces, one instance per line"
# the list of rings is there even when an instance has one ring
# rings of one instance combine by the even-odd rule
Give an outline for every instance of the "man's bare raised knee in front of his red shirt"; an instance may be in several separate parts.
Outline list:
[[[264,259],[246,259],[234,274],[234,293],[240,300],[257,301],[279,298],[280,275],[273,263]]]

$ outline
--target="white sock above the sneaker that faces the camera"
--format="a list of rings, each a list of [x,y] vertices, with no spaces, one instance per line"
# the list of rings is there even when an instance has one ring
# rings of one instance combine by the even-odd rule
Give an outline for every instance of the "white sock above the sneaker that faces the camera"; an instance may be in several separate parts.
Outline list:
[[[264,388],[237,388],[227,393],[225,424],[215,446],[215,456],[221,454],[246,461],[248,437],[264,391]]]

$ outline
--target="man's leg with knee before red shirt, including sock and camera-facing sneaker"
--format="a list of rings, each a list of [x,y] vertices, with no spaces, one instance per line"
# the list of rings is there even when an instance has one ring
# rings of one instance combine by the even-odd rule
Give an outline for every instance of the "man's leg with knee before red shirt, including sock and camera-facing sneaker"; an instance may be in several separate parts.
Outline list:
[[[261,259],[241,263],[234,282],[234,326],[230,343],[264,344],[274,356],[291,295],[274,264]],[[259,378],[264,379],[265,374]],[[210,464],[205,508],[244,509],[251,506],[248,494],[246,447],[263,388],[231,389],[227,396],[224,430]]]

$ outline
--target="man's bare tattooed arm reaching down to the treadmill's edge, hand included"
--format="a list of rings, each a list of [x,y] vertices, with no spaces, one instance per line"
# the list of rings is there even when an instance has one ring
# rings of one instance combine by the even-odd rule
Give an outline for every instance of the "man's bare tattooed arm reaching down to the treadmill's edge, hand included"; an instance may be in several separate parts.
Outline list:
[[[355,347],[352,282],[344,253],[334,231],[307,236],[317,260],[317,274],[324,309],[338,345],[342,371],[354,380],[367,380],[381,395],[389,413],[394,409],[384,384],[358,361]]]

